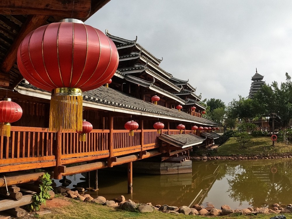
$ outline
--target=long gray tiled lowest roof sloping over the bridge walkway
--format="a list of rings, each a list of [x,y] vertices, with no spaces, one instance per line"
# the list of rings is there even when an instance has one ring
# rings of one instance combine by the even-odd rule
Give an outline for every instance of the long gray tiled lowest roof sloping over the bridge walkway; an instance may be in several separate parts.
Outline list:
[[[32,84],[26,84],[23,81],[19,84],[21,87],[30,88],[34,90],[40,90]],[[47,92],[47,91],[45,91]],[[48,93],[48,92],[47,92]],[[176,109],[169,109],[160,105],[155,105],[149,102],[145,102],[138,98],[134,98],[130,95],[114,90],[112,88],[106,88],[101,86],[92,91],[83,92],[83,100],[89,102],[96,102],[102,105],[111,105],[114,107],[125,108],[132,111],[145,112],[148,114],[161,115],[180,121],[180,119],[192,121],[194,123],[201,123],[210,126],[218,126],[217,123],[205,119],[203,117],[195,117]],[[110,109],[109,109],[110,110]]]

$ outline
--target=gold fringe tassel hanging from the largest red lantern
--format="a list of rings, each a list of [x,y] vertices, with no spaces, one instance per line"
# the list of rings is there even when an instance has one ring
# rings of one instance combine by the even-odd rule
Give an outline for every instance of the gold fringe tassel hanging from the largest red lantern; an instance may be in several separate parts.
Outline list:
[[[82,92],[78,88],[53,90],[50,106],[49,131],[82,131]]]

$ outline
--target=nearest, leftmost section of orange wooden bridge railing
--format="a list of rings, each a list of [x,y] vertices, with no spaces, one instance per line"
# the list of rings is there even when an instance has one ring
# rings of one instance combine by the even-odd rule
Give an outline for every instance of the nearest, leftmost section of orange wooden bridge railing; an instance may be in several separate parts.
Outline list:
[[[0,137],[0,172],[53,165],[54,144],[55,133],[47,128],[11,126],[11,136]]]

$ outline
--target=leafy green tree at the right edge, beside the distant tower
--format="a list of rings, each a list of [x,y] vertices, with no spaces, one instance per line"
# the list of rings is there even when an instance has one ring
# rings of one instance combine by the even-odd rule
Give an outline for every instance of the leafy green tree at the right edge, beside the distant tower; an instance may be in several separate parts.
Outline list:
[[[256,100],[265,107],[267,114],[271,112],[278,114],[284,135],[292,118],[292,81],[287,72],[285,75],[286,81],[282,82],[280,86],[274,81],[271,85],[263,85],[261,92],[255,95]]]

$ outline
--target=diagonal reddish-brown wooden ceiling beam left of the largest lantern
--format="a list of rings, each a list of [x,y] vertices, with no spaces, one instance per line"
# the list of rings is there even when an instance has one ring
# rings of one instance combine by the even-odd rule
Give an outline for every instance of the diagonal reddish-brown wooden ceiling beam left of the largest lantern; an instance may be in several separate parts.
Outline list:
[[[8,72],[10,71],[14,63],[16,62],[17,50],[21,41],[25,38],[27,34],[29,34],[29,32],[43,25],[43,23],[47,19],[48,19],[48,16],[44,16],[44,15],[30,15],[27,17],[27,20],[22,25],[20,32],[18,33],[18,36],[14,39],[13,44],[9,48],[0,66],[0,86],[5,86],[5,87],[9,86]],[[18,79],[18,81],[21,81],[21,79]]]

